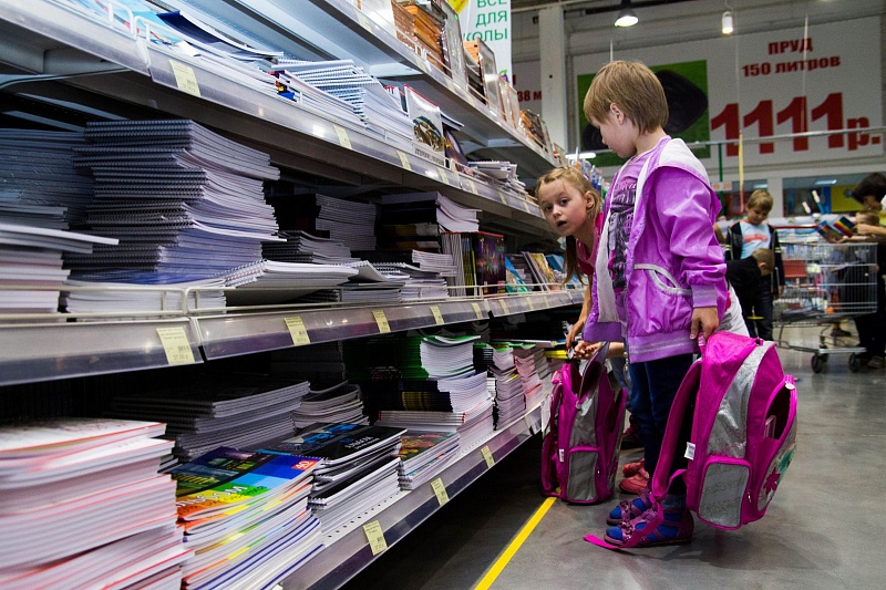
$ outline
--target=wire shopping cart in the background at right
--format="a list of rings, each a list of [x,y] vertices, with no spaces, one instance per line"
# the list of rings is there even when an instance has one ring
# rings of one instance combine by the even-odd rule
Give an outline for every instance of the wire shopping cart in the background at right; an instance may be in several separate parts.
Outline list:
[[[849,371],[862,368],[865,351],[845,338],[831,335],[839,321],[874,313],[877,309],[877,248],[875,244],[830,244],[813,230],[780,230],[784,262],[784,294],[774,304],[780,346],[812,353],[812,370],[820,373],[832,354],[848,354]],[[817,348],[785,341],[786,327],[817,327]]]

